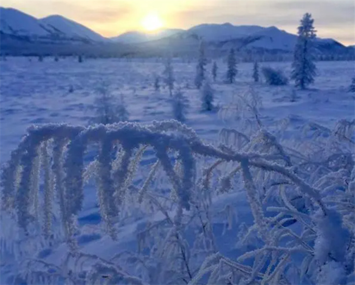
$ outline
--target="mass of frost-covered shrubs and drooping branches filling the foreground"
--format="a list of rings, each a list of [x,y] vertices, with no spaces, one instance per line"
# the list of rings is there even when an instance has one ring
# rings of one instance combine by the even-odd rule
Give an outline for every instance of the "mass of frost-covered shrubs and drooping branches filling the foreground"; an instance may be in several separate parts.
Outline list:
[[[251,101],[246,109],[256,106]],[[355,257],[354,125],[341,120],[331,130],[308,124],[298,142],[263,128],[252,134],[225,129],[227,141],[218,147],[175,120],[31,127],[2,170],[2,219],[8,219],[0,232],[2,256],[6,250],[17,258],[9,280],[345,283]],[[150,149],[156,159],[140,164]],[[83,230],[77,216],[91,178],[103,231],[117,238],[115,249],[130,243],[126,235],[136,236],[136,248],[102,257],[76,247]],[[244,223],[238,225],[234,210],[245,211]],[[27,253],[18,247],[23,243]],[[57,251],[60,245],[62,262],[43,258],[41,247],[50,243]]]

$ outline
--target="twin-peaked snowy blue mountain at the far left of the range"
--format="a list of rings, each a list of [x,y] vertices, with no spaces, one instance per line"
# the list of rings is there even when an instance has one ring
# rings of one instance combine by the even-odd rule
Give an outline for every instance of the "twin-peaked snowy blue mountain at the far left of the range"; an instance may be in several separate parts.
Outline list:
[[[5,38],[25,37],[26,40],[41,41],[107,40],[89,28],[58,15],[37,19],[16,9],[0,7],[0,23],[0,32]]]

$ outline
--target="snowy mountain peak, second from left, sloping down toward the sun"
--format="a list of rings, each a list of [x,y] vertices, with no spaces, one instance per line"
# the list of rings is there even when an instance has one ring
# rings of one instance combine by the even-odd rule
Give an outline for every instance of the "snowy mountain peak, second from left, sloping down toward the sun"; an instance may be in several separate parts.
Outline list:
[[[62,33],[68,37],[87,38],[89,40],[96,41],[107,40],[107,38],[83,26],[82,24],[66,19],[60,15],[52,15],[42,18],[40,19],[40,22],[53,28],[55,32]]]

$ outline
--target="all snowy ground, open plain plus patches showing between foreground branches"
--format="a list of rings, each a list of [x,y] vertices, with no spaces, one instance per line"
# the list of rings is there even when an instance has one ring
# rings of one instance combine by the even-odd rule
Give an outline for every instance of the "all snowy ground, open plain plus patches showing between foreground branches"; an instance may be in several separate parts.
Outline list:
[[[207,70],[210,74],[211,63]],[[261,97],[261,121],[267,129],[272,130],[282,119],[290,119],[290,136],[301,134],[301,127],[307,122],[321,124],[332,128],[339,119],[354,118],[354,96],[347,88],[355,73],[353,62],[319,62],[318,77],[311,89],[295,91],[297,99],[291,102],[293,86],[270,87],[264,82],[252,82],[251,63],[238,64],[238,75],[233,85],[224,84],[226,64],[218,62],[217,82],[212,84],[216,90],[215,106],[224,108],[233,106],[235,95],[243,94],[252,86]],[[291,63],[261,63],[260,66],[280,68],[290,74]],[[10,152],[16,148],[26,128],[32,124],[68,123],[73,125],[88,125],[94,116],[95,90],[104,82],[112,94],[124,95],[124,101],[130,113],[130,120],[149,123],[152,120],[173,118],[171,98],[166,88],[159,92],[154,90],[154,79],[163,71],[160,60],[131,61],[119,59],[87,59],[78,63],[77,59],[66,58],[55,62],[46,58],[38,62],[28,58],[8,58],[1,63],[1,160],[2,163],[10,157]],[[194,87],[195,63],[173,62],[175,88],[180,88],[189,101],[186,125],[193,128],[200,138],[209,143],[217,144],[222,128],[236,127],[233,116],[223,113],[201,111],[201,95]],[[161,83],[163,85],[163,83]],[[144,167],[144,166],[143,166]],[[79,245],[85,253],[109,258],[123,250],[134,250],[135,235],[148,218],[133,217],[133,222],[123,223],[118,233],[119,242],[114,242],[107,235],[94,234],[101,220],[96,205],[96,195],[92,185],[85,189],[83,212],[79,215],[81,236]],[[244,193],[231,193],[219,196],[213,203],[213,211],[222,213],[225,206],[233,209],[234,224],[250,222],[251,213]],[[129,217],[128,217],[129,218]],[[150,217],[150,221],[159,221],[163,217],[158,213]],[[216,220],[214,227],[217,247],[225,256],[233,259],[240,252],[235,246],[238,228],[226,230],[224,218]],[[297,224],[295,225],[297,226]],[[7,229],[8,230],[8,229]],[[297,231],[297,229],[295,229]],[[188,240],[190,242],[190,240]],[[66,245],[62,243],[57,248],[45,249],[38,253],[38,258],[56,263],[65,253]],[[9,259],[10,260],[10,259]],[[6,267],[2,261],[2,283],[14,264]],[[297,282],[297,281],[295,281]]]

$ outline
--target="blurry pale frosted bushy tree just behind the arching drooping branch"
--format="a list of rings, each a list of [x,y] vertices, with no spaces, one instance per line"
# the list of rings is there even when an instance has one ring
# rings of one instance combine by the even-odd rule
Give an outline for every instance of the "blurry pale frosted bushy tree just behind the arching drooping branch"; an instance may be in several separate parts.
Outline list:
[[[126,109],[123,95],[115,97],[106,83],[101,83],[96,90],[97,97],[94,100],[96,116],[91,123],[103,125],[127,121],[129,113]]]

